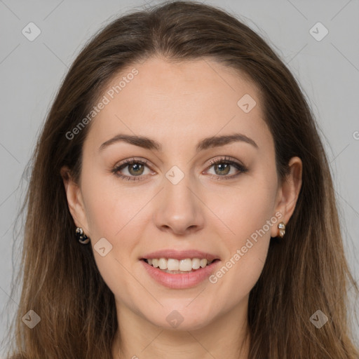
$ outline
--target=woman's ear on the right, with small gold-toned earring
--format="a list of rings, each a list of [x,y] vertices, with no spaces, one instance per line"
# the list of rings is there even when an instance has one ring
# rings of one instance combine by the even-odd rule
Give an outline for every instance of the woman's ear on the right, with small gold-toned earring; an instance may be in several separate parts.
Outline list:
[[[280,188],[278,189],[276,199],[276,212],[280,212],[279,222],[288,223],[290,217],[294,212],[295,205],[299,196],[299,191],[302,188],[302,160],[299,157],[292,157],[288,163],[290,173],[283,179]],[[272,226],[271,236],[278,236],[278,227]]]

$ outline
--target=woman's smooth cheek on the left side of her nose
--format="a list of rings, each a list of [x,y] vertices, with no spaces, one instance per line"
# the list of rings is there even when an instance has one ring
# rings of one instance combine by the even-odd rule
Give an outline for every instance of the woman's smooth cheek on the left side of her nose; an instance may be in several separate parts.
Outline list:
[[[128,269],[135,260],[132,254],[136,245],[132,238],[139,238],[142,233],[145,221],[140,210],[151,196],[139,195],[138,188],[126,189],[119,183],[121,179],[112,178],[115,176],[111,174],[86,177],[85,170],[83,174],[83,198],[97,268],[111,290],[130,287],[133,278],[128,276]],[[97,252],[100,240],[105,243],[104,257]]]

